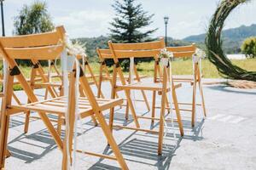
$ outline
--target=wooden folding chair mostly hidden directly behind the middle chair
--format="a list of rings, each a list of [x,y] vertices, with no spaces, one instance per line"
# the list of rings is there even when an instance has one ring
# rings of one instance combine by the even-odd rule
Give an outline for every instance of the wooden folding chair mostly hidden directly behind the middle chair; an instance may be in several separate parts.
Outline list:
[[[112,53],[109,49],[96,48],[96,52],[99,56],[100,63],[101,63],[98,94],[97,94],[99,96],[99,92],[101,92],[101,89],[102,89],[103,81],[109,81],[111,86],[113,85],[113,83],[112,83],[113,77],[110,75],[110,72],[108,71],[108,66],[106,65],[106,62],[105,62],[106,59],[113,59],[113,57],[112,57]],[[146,78],[146,76],[139,76],[139,74],[137,73],[137,65],[134,65],[133,70],[135,73],[134,81],[141,82],[142,78]],[[104,72],[105,72],[105,74],[104,74]],[[130,71],[130,73],[131,73],[131,71]],[[131,74],[129,74],[128,77],[125,76],[125,81],[131,82]],[[135,99],[135,100],[144,102],[145,105],[147,106],[148,111],[150,111],[150,106],[148,104],[147,96],[143,90],[141,90],[141,93],[143,95],[143,100],[142,99]],[[118,94],[115,94],[115,95],[116,95],[116,97],[119,97]],[[128,117],[129,117],[128,114],[129,114],[129,105],[126,102],[126,110],[125,110],[125,119],[126,120],[128,120]]]

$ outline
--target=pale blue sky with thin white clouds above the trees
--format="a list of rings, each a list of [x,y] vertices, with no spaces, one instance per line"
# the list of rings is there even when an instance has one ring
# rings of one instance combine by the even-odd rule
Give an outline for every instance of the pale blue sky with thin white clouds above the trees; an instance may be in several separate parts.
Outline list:
[[[113,0],[44,0],[55,26],[65,26],[69,37],[99,37],[109,34],[109,22],[115,16]],[[6,35],[11,36],[14,18],[24,4],[34,0],[5,0],[4,18]],[[168,37],[182,39],[207,31],[207,24],[218,0],[137,0],[148,14],[154,14],[153,24],[147,29],[158,28],[153,37],[165,35],[164,16],[169,16]],[[256,24],[256,0],[242,4],[230,14],[225,29]]]

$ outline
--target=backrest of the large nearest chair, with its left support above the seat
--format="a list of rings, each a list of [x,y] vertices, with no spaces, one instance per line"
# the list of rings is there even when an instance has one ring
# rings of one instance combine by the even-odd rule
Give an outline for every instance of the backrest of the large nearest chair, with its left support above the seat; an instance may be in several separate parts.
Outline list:
[[[8,62],[9,70],[16,76],[31,102],[38,101],[32,88],[15,62],[15,59],[55,59],[65,48],[60,41],[64,40],[65,29],[58,26],[55,31],[26,36],[0,37],[0,55]]]

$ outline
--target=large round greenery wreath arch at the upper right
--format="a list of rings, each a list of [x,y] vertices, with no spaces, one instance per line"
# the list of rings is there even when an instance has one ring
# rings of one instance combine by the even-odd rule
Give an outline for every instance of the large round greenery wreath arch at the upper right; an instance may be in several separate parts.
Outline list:
[[[215,65],[218,72],[225,78],[240,79],[256,82],[256,71],[246,71],[236,65],[233,65],[230,59],[224,54],[222,30],[224,21],[229,14],[242,3],[250,0],[221,0],[218,8],[212,15],[212,20],[208,26],[206,45],[208,59]]]

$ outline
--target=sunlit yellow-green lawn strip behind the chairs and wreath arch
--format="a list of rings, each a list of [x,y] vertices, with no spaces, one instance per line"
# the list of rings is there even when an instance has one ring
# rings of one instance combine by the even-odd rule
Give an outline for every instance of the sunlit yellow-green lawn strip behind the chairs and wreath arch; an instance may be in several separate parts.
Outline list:
[[[247,71],[256,71],[256,59],[233,59],[234,65],[238,65]],[[95,74],[99,72],[100,65],[96,62],[90,63],[90,66]],[[2,66],[0,67],[2,70]],[[154,74],[154,62],[149,63],[139,63],[137,65],[139,74],[147,75],[152,77]],[[23,72],[25,77],[30,77],[31,68],[28,66],[20,66],[20,70]],[[47,72],[47,67],[44,67]],[[173,74],[188,75],[192,73],[192,61],[191,59],[186,60],[176,60],[172,62]],[[214,65],[208,60],[202,60],[202,72],[205,78],[221,78],[218,71]],[[20,89],[20,86],[16,85],[15,89]]]

